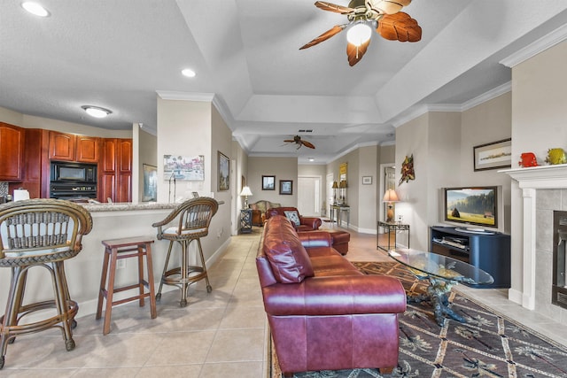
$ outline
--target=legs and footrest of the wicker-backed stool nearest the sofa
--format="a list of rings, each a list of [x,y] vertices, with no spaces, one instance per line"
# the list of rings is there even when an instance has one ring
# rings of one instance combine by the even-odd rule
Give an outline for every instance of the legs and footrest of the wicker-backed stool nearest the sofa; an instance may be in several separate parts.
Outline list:
[[[201,259],[201,266],[190,266],[189,265],[189,246],[193,240],[197,240],[198,243],[198,256]],[[206,280],[206,292],[210,293],[213,291],[213,287],[209,282],[209,277],[206,274],[205,258],[203,256],[203,248],[201,247],[200,238],[196,239],[185,239],[177,241],[181,245],[181,265],[173,269],[167,269],[169,264],[169,258],[171,257],[171,250],[173,249],[175,241],[169,243],[169,248],[167,249],[166,263],[163,268],[163,273],[161,274],[161,281],[159,282],[158,294],[156,299],[159,301],[161,299],[161,289],[163,285],[173,285],[177,286],[181,290],[181,300],[179,305],[185,307],[187,305],[187,290],[191,283],[198,282],[202,279]]]

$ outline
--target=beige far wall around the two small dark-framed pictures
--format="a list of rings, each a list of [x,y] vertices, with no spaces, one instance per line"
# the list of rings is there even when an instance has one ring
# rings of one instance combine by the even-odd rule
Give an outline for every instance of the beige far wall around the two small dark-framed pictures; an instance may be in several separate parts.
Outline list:
[[[275,190],[262,190],[262,175],[276,176]],[[248,197],[248,203],[253,204],[260,200],[267,200],[282,204],[282,206],[297,207],[297,190],[293,195],[280,196],[279,181],[292,180],[297,188],[298,181],[298,158],[248,158],[248,186],[252,190],[252,197]]]

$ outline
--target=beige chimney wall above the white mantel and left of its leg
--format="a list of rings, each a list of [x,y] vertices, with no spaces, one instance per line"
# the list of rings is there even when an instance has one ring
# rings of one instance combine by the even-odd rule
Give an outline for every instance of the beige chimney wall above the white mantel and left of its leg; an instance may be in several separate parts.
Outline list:
[[[533,152],[545,165],[549,148],[567,150],[567,42],[561,42],[512,68],[512,167],[522,152]],[[511,185],[512,293],[523,292],[523,198]]]

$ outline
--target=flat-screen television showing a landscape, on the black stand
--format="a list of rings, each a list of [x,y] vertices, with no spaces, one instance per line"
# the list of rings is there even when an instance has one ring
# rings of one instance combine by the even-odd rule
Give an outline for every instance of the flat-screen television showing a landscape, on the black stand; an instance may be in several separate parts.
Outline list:
[[[462,232],[504,232],[501,186],[442,188],[441,195],[442,222]]]

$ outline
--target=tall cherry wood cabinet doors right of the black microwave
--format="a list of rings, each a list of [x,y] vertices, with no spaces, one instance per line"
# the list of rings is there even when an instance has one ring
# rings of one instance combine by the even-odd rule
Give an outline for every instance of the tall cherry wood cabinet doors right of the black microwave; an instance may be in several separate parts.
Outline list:
[[[103,139],[98,167],[98,200],[132,202],[132,139]]]

